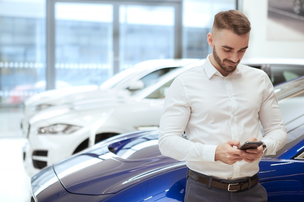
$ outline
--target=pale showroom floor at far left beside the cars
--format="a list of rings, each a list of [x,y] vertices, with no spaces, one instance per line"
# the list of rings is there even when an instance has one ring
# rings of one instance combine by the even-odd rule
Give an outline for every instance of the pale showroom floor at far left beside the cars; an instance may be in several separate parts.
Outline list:
[[[21,108],[0,108],[0,202],[30,202],[30,177],[22,164]]]

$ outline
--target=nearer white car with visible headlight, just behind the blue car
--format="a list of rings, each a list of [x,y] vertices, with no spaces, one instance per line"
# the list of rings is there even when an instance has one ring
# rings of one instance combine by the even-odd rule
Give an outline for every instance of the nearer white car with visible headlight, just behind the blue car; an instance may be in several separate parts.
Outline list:
[[[203,62],[175,68],[130,96],[81,100],[38,111],[27,127],[28,141],[23,147],[26,171],[32,176],[95,142],[158,127],[165,93],[173,79]]]

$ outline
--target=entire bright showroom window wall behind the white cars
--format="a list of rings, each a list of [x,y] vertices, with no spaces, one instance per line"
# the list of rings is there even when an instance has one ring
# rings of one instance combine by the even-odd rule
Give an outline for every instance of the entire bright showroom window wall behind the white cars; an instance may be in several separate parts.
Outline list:
[[[214,14],[236,0],[0,0],[0,8],[3,106],[101,85],[145,60],[205,58]]]

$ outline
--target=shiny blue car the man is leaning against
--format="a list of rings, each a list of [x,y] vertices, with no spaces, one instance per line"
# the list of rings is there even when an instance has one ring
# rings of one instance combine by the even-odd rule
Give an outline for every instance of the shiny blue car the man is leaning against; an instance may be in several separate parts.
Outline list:
[[[275,87],[288,140],[260,162],[269,202],[304,201],[304,77]],[[186,137],[185,137],[186,138]],[[32,177],[32,202],[183,202],[186,164],[161,155],[158,130],[104,140]]]

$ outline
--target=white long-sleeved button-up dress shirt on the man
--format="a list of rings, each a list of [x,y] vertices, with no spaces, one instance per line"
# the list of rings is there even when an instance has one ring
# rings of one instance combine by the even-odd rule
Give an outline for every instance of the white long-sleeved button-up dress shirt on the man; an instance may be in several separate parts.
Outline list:
[[[187,139],[182,137],[184,131]],[[218,145],[227,140],[243,143],[252,137],[264,141],[268,155],[287,140],[273,85],[263,70],[238,64],[236,71],[223,77],[207,57],[203,65],[175,78],[160,121],[163,155],[220,179],[252,176],[259,171],[260,160],[228,165],[214,159]]]

